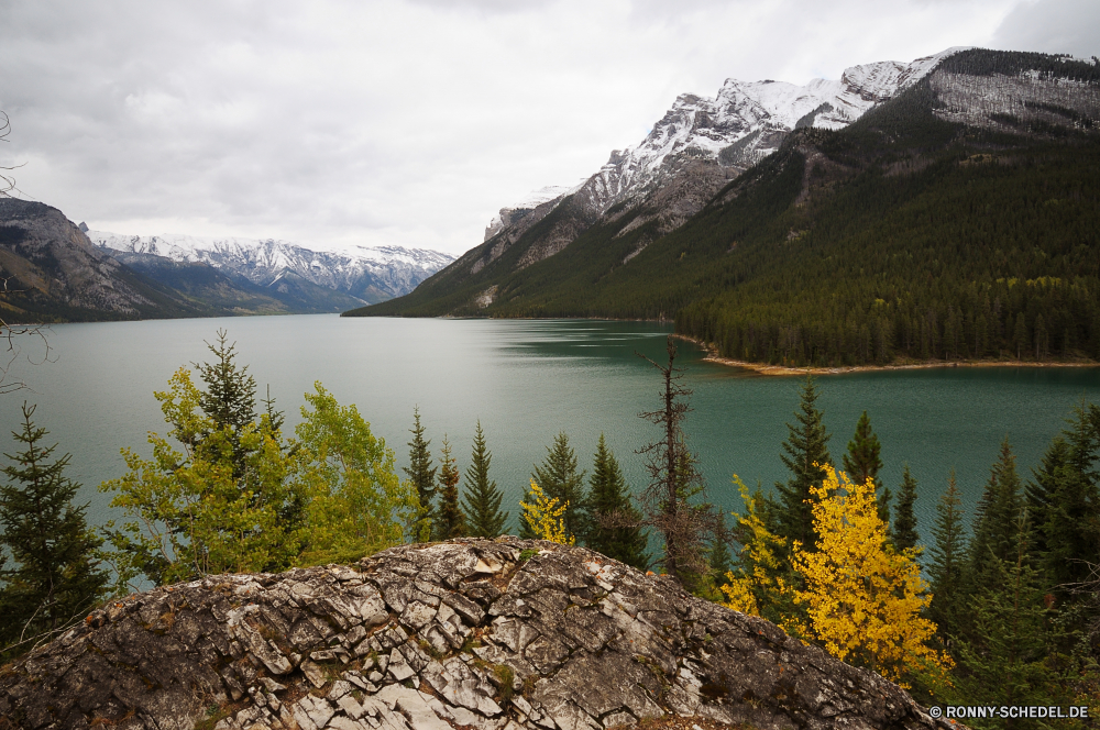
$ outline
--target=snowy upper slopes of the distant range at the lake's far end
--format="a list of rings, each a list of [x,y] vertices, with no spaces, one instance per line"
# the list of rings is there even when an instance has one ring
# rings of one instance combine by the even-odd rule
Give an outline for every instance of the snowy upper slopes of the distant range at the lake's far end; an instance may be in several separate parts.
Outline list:
[[[293,273],[364,301],[406,295],[454,261],[438,251],[400,246],[354,246],[338,252],[271,239],[141,236],[106,231],[87,231],[87,235],[102,248],[201,262],[264,287],[275,286]]]

